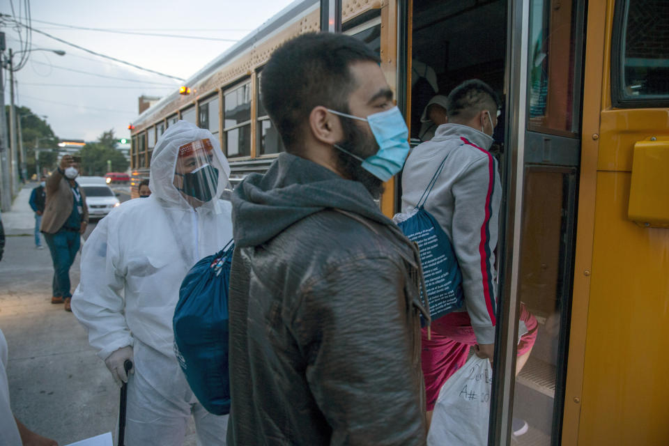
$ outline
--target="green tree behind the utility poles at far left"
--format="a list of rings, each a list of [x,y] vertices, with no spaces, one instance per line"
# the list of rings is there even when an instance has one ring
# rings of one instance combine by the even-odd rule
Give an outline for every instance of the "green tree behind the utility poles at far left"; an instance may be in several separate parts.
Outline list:
[[[9,128],[9,105],[6,105],[7,128]],[[56,168],[58,161],[57,144],[59,138],[56,137],[51,125],[40,116],[34,114],[28,107],[15,107],[17,119],[21,121],[21,138],[23,147],[26,151],[26,169],[28,176],[36,173],[35,149],[39,151],[40,170],[52,170]],[[52,150],[47,151],[45,149]]]

